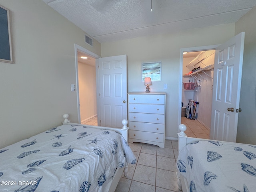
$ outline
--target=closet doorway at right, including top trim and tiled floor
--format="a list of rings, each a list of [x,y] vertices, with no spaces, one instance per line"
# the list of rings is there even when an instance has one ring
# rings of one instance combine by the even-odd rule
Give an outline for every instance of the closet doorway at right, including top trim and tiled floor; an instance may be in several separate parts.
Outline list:
[[[182,121],[199,128],[191,136],[210,136],[214,54],[217,46],[181,49]],[[185,85],[184,85],[185,84]],[[186,107],[189,106],[189,110]],[[185,118],[188,117],[188,118]],[[207,134],[207,135],[206,135]]]

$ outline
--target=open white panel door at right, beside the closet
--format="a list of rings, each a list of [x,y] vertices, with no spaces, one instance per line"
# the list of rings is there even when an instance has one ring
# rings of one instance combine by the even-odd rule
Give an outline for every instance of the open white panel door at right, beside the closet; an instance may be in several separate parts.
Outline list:
[[[211,139],[236,142],[243,54],[244,32],[216,48]]]

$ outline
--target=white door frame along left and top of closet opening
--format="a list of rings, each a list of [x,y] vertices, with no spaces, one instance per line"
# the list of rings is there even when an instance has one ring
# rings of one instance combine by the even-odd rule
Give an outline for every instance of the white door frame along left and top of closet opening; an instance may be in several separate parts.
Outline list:
[[[183,77],[183,52],[197,52],[206,50],[215,50],[219,45],[208,45],[180,49],[180,83],[179,83],[179,110],[178,110],[178,124],[181,124],[181,102],[182,102],[182,77]],[[178,130],[179,132],[179,130]]]

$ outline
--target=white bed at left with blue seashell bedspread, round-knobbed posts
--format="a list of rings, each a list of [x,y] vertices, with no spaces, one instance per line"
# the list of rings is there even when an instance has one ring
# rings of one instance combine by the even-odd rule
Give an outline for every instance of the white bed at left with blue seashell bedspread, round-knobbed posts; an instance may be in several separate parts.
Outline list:
[[[114,192],[136,158],[123,128],[70,123],[0,149],[1,192]]]

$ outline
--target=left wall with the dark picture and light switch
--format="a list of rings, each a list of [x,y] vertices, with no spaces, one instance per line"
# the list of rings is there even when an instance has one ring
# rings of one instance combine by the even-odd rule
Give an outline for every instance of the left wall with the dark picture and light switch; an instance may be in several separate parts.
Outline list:
[[[58,126],[64,113],[78,121],[74,44],[84,32],[41,0],[0,0],[10,10],[14,64],[0,62],[0,148]]]

